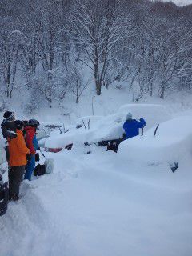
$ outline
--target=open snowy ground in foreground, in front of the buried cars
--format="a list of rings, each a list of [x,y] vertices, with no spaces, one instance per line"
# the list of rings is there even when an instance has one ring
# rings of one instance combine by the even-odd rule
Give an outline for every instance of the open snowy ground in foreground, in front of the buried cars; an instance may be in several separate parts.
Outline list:
[[[1,256],[191,255],[189,170],[138,170],[102,149],[51,156],[54,174],[23,182],[0,218]]]

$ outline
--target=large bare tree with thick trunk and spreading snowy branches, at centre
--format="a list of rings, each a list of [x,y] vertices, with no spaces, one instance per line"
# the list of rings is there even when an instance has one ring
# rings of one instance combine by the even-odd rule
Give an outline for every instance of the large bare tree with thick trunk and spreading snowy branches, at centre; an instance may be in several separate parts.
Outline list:
[[[75,1],[70,15],[69,31],[74,41],[83,46],[87,60],[82,60],[94,73],[96,92],[101,94],[111,49],[123,38],[130,26],[118,15],[118,1]]]

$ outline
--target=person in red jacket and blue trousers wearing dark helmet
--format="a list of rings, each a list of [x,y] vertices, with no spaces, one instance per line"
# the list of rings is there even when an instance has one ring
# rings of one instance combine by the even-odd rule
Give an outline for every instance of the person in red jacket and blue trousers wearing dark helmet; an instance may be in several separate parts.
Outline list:
[[[26,146],[30,150],[30,162],[26,167],[25,179],[31,180],[31,176],[34,172],[35,167],[35,153],[38,150],[38,140],[36,138],[36,130],[39,126],[39,122],[35,119],[30,119],[28,126],[25,127]]]

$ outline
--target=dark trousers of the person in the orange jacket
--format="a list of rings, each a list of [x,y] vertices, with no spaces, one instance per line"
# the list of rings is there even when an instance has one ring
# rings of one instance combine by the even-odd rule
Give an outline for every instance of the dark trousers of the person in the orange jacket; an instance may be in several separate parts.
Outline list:
[[[19,194],[19,186],[22,182],[22,176],[26,166],[14,166],[9,169],[9,195]]]

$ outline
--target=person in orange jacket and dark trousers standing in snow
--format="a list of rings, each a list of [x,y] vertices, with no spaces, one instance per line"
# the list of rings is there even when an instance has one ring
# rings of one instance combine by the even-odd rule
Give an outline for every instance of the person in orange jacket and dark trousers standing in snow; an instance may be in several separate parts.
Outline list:
[[[24,123],[16,120],[17,137],[12,138],[9,143],[9,198],[17,201],[19,187],[22,182],[22,176],[26,168],[26,154],[30,154],[30,150],[26,147],[26,142],[23,137]]]

